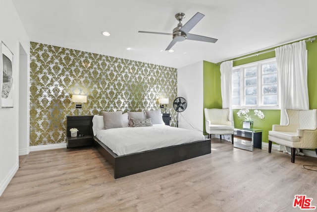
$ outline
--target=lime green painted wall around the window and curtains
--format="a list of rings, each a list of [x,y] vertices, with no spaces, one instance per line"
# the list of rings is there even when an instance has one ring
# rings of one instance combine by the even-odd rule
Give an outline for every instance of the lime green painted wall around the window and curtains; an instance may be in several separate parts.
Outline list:
[[[296,41],[298,42],[298,41]],[[309,92],[309,103],[310,109],[317,108],[317,41],[306,42],[306,47],[308,50],[308,92]],[[266,49],[259,51],[257,53],[266,52],[268,50],[273,50],[275,48]],[[250,55],[255,55],[253,53]],[[241,56],[240,58],[249,55]],[[249,57],[242,60],[237,60],[233,62],[233,67],[240,66],[247,63],[252,63],[256,61],[261,61],[269,58],[275,57],[275,51],[260,54],[258,56]],[[239,58],[235,58],[239,59]],[[235,60],[232,59],[232,60]],[[206,65],[205,65],[206,64]],[[215,73],[217,72],[218,73]],[[205,74],[206,73],[206,74]],[[206,78],[205,78],[206,77]],[[215,77],[215,78],[213,78]],[[218,81],[218,84],[215,83]],[[204,61],[204,107],[210,106],[210,108],[221,108],[221,102],[219,103],[216,99],[221,101],[221,91],[220,91],[220,66]],[[206,103],[205,103],[206,102]],[[216,103],[215,103],[216,102]],[[214,103],[214,104],[213,104]],[[235,127],[242,127],[242,122],[238,116],[237,112],[239,110],[233,110],[233,118]],[[254,128],[263,129],[262,140],[268,142],[268,131],[272,130],[272,125],[279,124],[280,122],[280,110],[262,110],[265,115],[265,120],[261,121],[255,119]],[[205,119],[204,119],[204,130],[205,130]]]

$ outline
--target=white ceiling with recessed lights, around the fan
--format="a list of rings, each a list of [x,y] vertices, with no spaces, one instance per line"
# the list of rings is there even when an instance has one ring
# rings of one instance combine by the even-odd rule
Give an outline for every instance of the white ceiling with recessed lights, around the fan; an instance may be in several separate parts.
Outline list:
[[[12,0],[31,41],[163,66],[222,62],[317,34],[317,0]],[[185,40],[164,50],[174,15],[205,17],[190,31],[214,44]],[[101,31],[108,31],[105,37]],[[127,47],[132,48],[130,51]]]

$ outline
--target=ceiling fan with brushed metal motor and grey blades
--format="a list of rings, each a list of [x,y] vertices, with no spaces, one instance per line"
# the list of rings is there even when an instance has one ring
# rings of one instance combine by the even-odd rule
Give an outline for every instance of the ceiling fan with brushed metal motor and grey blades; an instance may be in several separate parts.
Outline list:
[[[204,17],[205,15],[197,12],[187,23],[184,25],[181,23],[183,18],[185,18],[185,14],[182,12],[176,13],[175,18],[179,21],[177,24],[177,27],[173,29],[173,33],[164,33],[164,32],[148,32],[148,31],[138,31],[140,33],[150,33],[150,34],[160,34],[160,35],[173,35],[173,40],[170,42],[170,44],[167,46],[166,50],[170,50],[172,46],[178,41],[184,41],[184,40],[194,40],[194,41],[205,41],[210,43],[215,43],[218,39],[205,37],[202,35],[194,35],[188,33],[194,26]]]

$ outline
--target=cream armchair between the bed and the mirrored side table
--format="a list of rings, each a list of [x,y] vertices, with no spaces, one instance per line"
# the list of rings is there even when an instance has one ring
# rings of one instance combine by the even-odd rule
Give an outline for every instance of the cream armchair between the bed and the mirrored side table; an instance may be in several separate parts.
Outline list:
[[[223,109],[208,109],[205,108],[206,132],[208,137],[211,135],[231,135],[233,144],[234,123],[229,121],[229,108]]]

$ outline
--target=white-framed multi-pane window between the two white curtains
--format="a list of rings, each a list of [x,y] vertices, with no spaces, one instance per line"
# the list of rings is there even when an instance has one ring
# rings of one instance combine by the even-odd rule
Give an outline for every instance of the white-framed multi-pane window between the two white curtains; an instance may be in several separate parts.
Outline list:
[[[278,108],[275,58],[233,67],[232,106]]]

